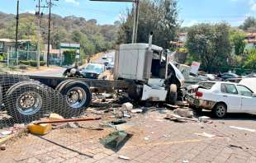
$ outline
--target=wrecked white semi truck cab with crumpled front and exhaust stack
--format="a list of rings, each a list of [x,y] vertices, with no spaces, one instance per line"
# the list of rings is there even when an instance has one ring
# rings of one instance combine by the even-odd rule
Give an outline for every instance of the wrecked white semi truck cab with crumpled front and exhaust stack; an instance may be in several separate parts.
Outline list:
[[[114,70],[116,80],[134,83],[128,90],[134,100],[174,104],[184,85],[183,74],[170,61],[169,53],[150,43],[121,44],[116,50]]]

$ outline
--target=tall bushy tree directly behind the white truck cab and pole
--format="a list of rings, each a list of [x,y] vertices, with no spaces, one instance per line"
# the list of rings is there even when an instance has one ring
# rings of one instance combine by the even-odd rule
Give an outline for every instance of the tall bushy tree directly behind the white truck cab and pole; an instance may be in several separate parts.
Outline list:
[[[130,43],[133,28],[133,11],[127,11],[118,36],[118,43]],[[140,16],[137,42],[147,43],[149,33],[154,32],[153,44],[169,48],[178,29],[177,0],[142,0],[140,1]]]

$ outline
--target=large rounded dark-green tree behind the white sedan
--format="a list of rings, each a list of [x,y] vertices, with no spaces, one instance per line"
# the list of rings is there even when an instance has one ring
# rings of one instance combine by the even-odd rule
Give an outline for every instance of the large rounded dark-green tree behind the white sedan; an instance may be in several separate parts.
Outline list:
[[[231,45],[230,26],[225,23],[216,25],[199,24],[192,26],[187,33],[186,47],[192,57],[201,62],[207,72],[213,67],[227,65],[230,58]]]

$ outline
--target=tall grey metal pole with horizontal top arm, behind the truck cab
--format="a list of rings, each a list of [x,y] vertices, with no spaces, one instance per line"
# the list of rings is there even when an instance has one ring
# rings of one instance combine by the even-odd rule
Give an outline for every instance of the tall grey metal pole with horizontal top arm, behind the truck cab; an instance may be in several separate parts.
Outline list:
[[[133,2],[133,11],[134,11],[134,19],[133,19],[133,30],[132,30],[132,43],[137,42],[137,32],[138,32],[138,24],[139,24],[139,2],[140,0],[90,0],[90,1],[98,1],[98,2]]]

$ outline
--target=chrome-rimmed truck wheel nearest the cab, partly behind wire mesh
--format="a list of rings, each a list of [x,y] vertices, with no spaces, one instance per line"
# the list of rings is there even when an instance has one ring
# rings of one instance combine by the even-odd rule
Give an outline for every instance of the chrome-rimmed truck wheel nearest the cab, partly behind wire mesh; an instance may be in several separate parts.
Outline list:
[[[60,110],[64,116],[80,114],[83,109],[88,108],[92,102],[92,92],[89,86],[83,81],[70,81],[62,87],[59,92],[65,95],[66,103],[69,107]]]

